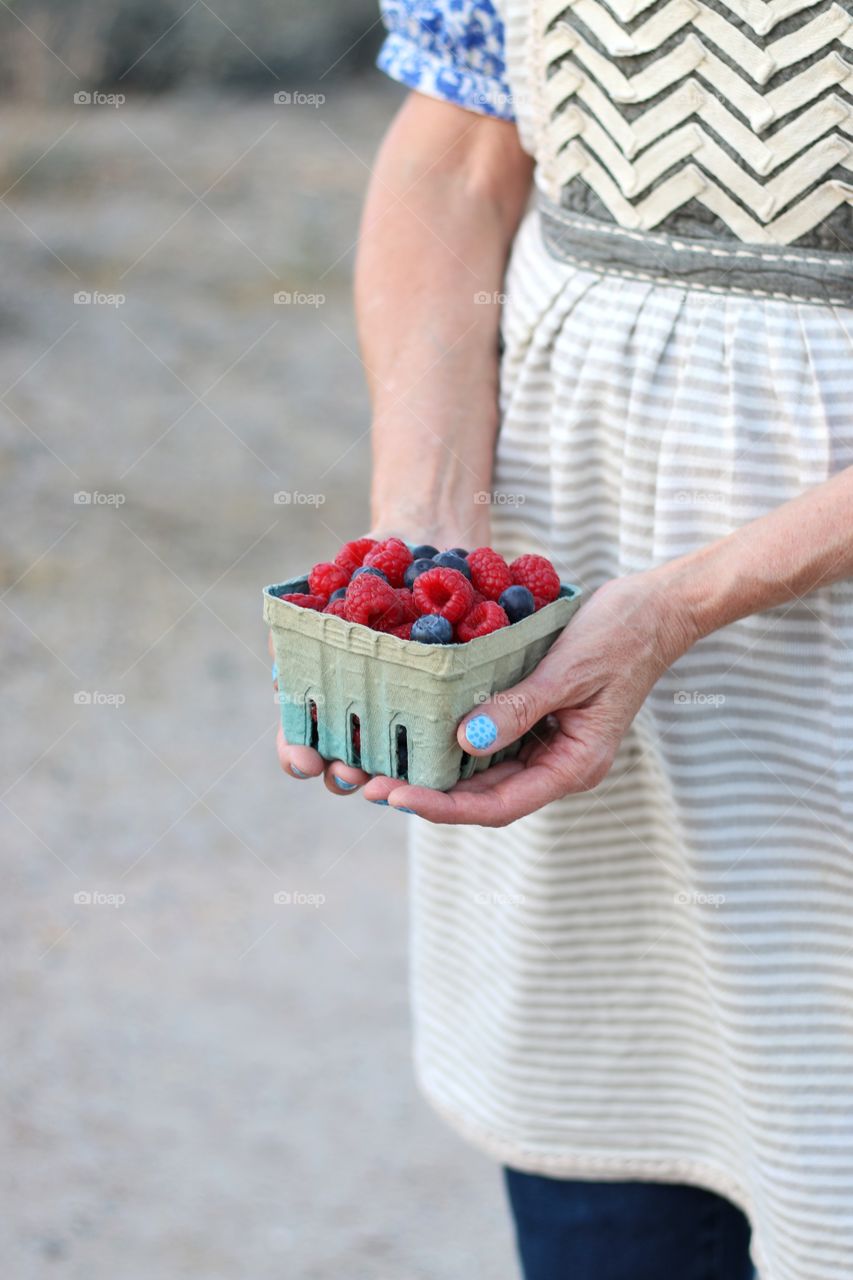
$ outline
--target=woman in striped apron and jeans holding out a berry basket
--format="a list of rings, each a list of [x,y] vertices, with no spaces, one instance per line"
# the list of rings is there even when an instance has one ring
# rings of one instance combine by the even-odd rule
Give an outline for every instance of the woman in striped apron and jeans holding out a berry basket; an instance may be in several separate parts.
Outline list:
[[[853,3],[384,15],[375,531],[594,595],[460,724],[520,760],[282,764],[421,819],[418,1074],[528,1280],[853,1275]]]

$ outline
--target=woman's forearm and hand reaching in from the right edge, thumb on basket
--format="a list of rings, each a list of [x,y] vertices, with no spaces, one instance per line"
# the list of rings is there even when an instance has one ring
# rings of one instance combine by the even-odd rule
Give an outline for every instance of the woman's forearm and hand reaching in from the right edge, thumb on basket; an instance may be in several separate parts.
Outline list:
[[[697,640],[850,576],[853,467],[689,556],[606,582],[526,680],[460,723],[460,745],[484,755],[551,717],[519,759],[446,794],[375,778],[365,795],[432,822],[503,827],[588,791],[607,776],[656,681]],[[465,736],[479,716],[496,730],[487,750]]]

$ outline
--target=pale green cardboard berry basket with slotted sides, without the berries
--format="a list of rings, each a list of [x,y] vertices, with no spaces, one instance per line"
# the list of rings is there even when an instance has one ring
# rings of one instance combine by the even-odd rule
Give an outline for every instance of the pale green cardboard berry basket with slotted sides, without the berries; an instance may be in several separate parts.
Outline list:
[[[533,671],[583,598],[580,588],[562,585],[521,622],[467,644],[429,645],[279,599],[305,590],[304,577],[264,588],[284,737],[327,760],[437,791],[517,754],[520,742],[469,755],[456,726]]]

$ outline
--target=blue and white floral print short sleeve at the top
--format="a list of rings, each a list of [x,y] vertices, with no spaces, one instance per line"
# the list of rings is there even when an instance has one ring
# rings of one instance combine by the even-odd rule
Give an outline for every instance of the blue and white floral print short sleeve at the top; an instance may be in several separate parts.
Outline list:
[[[377,65],[469,111],[512,120],[503,23],[493,0],[380,0],[388,36]]]

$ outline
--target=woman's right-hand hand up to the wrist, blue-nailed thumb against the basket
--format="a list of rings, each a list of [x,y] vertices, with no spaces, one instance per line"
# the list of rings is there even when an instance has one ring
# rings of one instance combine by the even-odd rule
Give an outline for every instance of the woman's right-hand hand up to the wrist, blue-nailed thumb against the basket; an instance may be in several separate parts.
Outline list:
[[[430,822],[505,827],[551,800],[598,786],[649,690],[695,639],[662,588],[660,571],[607,582],[526,680],[461,721],[459,742],[471,755],[489,755],[534,730],[515,760],[447,792],[377,777],[365,799],[387,800]],[[494,735],[479,749],[466,737],[474,722],[478,741]]]

